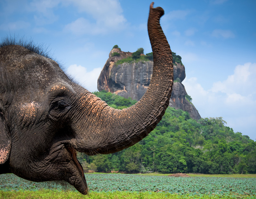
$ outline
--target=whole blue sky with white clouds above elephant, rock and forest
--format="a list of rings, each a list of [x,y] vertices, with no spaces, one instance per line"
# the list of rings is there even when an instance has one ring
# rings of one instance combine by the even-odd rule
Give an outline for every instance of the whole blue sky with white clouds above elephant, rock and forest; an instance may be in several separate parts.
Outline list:
[[[147,18],[151,1],[2,0],[0,36],[44,44],[89,91],[115,44],[151,52]],[[182,57],[188,95],[202,117],[256,139],[256,1],[155,1],[164,33]]]

